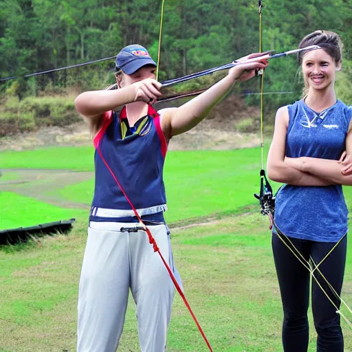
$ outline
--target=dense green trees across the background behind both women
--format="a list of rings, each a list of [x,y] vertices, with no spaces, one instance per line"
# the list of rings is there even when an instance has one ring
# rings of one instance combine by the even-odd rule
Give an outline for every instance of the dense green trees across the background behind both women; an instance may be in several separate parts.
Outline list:
[[[156,60],[161,3],[1,1],[0,75],[19,77],[2,84],[1,92],[26,96],[41,94],[44,87],[54,91],[68,86],[99,89],[109,84],[113,61],[33,80],[21,77],[113,56],[132,43],[146,46]],[[352,0],[263,0],[262,16],[263,50],[294,49],[303,36],[318,29],[338,32],[344,42],[344,71],[338,90],[342,98],[351,98]],[[258,1],[165,0],[160,80],[223,65],[258,48]],[[289,91],[293,83],[299,85],[294,58],[272,61],[270,68],[265,78],[267,91]],[[255,89],[254,85],[249,88]],[[294,90],[298,94],[298,88]],[[283,102],[287,97],[273,99]]]

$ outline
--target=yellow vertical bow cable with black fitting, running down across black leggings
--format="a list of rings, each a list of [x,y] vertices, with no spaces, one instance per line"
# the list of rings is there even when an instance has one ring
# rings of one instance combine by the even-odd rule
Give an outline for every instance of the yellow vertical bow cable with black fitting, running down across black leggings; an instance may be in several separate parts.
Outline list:
[[[262,52],[262,43],[263,43],[263,35],[262,35],[263,1],[259,0],[258,5],[259,5],[259,52]],[[289,54],[293,54],[294,52],[295,52],[295,50],[290,50],[290,51],[285,52],[285,53],[272,55],[271,57],[272,58],[273,57],[278,58],[278,57],[286,56],[286,55],[289,55]],[[327,283],[329,289],[331,289],[331,292],[333,293],[333,295],[338,300],[340,300],[340,303],[343,303],[344,306],[347,307],[347,309],[352,314],[352,309],[347,305],[347,303],[344,302],[344,300],[342,300],[342,298],[336,292],[336,289],[333,288],[333,286],[329,283],[329,281],[327,281],[327,278],[319,270],[319,266],[323,263],[323,261],[325,261],[325,259],[327,259],[327,257],[331,254],[331,252],[333,252],[333,250],[335,250],[335,248],[337,248],[337,246],[342,241],[342,239],[344,239],[344,236],[342,237],[342,239],[340,239],[340,241],[338,241],[333,246],[333,248],[327,253],[327,255],[318,264],[316,264],[312,257],[310,257],[310,259],[309,259],[310,262],[307,261],[307,259],[305,259],[303,254],[300,253],[300,251],[296,248],[294,243],[292,243],[292,241],[289,239],[289,237],[286,234],[284,234],[280,230],[280,228],[278,228],[278,225],[275,222],[275,219],[274,219],[275,197],[274,197],[274,194],[273,194],[273,191],[272,191],[272,186],[270,186],[270,183],[267,180],[267,177],[265,175],[265,170],[264,170],[264,167],[263,167],[263,149],[264,149],[264,138],[263,138],[263,129],[264,129],[264,100],[263,100],[263,95],[264,95],[264,89],[263,89],[263,87],[264,87],[264,71],[263,72],[259,72],[259,74],[261,74],[261,83],[260,83],[260,85],[261,85],[261,89],[260,89],[260,91],[261,91],[261,109],[260,109],[261,110],[261,118],[260,118],[260,120],[261,120],[261,123],[260,123],[260,126],[261,126],[261,171],[260,171],[261,186],[260,186],[259,194],[254,194],[254,197],[256,197],[256,199],[259,199],[259,204],[261,206],[261,213],[263,215],[266,214],[269,217],[269,219],[270,219],[270,227],[269,227],[270,230],[272,230],[273,226],[275,227],[276,233],[278,234],[278,238],[281,239],[281,241],[292,252],[292,254],[294,254],[294,256],[296,256],[298,261],[300,261],[300,263],[302,263],[303,266],[309,271],[309,273],[311,274],[312,278],[314,278],[314,280],[316,281],[317,285],[320,287],[320,289],[325,294],[325,296],[327,296],[327,299],[330,301],[330,303],[336,309],[336,314],[340,314],[340,316],[344,319],[344,321],[347,322],[349,327],[352,328],[351,321],[349,319],[347,319],[346,316],[344,316],[344,314],[342,314],[342,312],[338,308],[338,305],[336,305],[336,303],[333,302],[333,300],[331,299],[329,294],[327,294],[325,289],[322,287],[321,283],[318,281],[318,278],[314,274],[314,272],[318,272],[320,274],[320,276],[325,281],[325,283]]]

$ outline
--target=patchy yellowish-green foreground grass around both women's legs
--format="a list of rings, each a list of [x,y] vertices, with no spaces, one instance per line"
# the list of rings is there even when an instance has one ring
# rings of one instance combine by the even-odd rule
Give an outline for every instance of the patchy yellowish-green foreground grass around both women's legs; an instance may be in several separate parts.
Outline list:
[[[214,351],[282,351],[281,300],[267,225],[267,218],[256,212],[172,231],[186,297]],[[85,239],[85,219],[78,218],[69,236],[43,238],[21,251],[0,251],[0,345],[5,351],[76,351],[78,279]],[[349,245],[342,292],[347,303],[352,302],[351,249]],[[342,311],[348,316],[347,309]],[[308,351],[314,352],[311,311],[309,320]],[[351,351],[352,331],[344,322],[342,329],[345,351]],[[139,351],[133,300],[118,351]],[[166,351],[207,351],[178,295]]]

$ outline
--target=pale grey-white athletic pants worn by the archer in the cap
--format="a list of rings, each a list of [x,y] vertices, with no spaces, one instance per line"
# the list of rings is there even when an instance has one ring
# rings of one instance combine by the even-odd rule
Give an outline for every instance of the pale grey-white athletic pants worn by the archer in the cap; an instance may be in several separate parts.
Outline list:
[[[142,352],[164,352],[174,285],[138,223],[89,224],[78,295],[77,352],[115,352],[124,326],[129,288],[137,305]],[[166,263],[173,263],[166,225],[148,227]],[[179,280],[177,280],[179,281]],[[179,281],[180,283],[180,281]]]

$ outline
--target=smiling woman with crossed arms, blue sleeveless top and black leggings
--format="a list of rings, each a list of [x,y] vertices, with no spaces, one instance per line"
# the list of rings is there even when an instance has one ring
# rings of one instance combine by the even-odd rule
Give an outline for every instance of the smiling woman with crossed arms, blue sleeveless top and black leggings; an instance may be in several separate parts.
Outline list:
[[[318,269],[340,295],[348,213],[342,185],[351,185],[352,176],[342,174],[344,166],[338,160],[352,142],[352,109],[337,100],[334,90],[336,72],[342,65],[339,36],[318,30],[305,36],[299,47],[309,45],[319,45],[321,49],[300,54],[305,96],[278,109],[267,172],[270,179],[284,183],[276,195],[278,228],[307,261],[311,258],[316,265],[333,249]],[[283,303],[283,348],[285,352],[306,352],[310,274],[275,230],[272,248]],[[318,270],[314,275],[340,307],[340,300]],[[343,352],[340,316],[315,281],[311,307],[318,333],[317,351]]]

